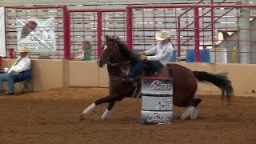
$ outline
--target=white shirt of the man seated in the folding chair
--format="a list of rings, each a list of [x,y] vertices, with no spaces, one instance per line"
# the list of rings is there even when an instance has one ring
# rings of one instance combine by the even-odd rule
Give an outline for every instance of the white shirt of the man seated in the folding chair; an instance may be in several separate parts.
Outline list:
[[[31,66],[31,60],[28,55],[24,58],[19,56],[14,62],[14,65],[10,67],[10,70],[8,70],[8,73],[10,73],[12,70],[15,70],[16,73],[30,70],[30,66]]]

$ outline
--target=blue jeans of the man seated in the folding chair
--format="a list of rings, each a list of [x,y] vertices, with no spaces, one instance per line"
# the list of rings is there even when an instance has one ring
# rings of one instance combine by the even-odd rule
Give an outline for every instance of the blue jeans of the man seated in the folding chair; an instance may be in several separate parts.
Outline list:
[[[0,89],[2,89],[2,81],[7,82],[7,92],[8,93],[14,93],[14,82],[21,82],[25,80],[22,76],[22,73],[13,74],[13,73],[6,73],[6,74],[0,74]]]

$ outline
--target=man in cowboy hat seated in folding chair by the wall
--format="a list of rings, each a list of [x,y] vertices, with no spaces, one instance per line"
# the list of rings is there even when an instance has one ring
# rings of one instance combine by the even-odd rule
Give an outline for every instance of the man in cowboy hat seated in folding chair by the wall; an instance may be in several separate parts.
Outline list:
[[[10,67],[4,74],[0,74],[0,86],[2,89],[2,81],[7,82],[7,91],[5,94],[14,94],[14,82],[20,82],[25,80],[30,74],[31,61],[29,58],[29,50],[26,47],[22,47],[18,50],[20,56],[14,62],[14,65]]]

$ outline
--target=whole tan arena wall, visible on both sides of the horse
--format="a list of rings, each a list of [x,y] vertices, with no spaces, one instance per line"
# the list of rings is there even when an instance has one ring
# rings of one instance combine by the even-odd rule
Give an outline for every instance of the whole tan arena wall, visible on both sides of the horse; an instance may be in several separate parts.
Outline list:
[[[3,59],[2,67],[11,66],[14,60]],[[212,74],[228,73],[237,96],[254,96],[256,91],[256,65],[254,64],[209,64],[178,63],[190,70],[206,71]],[[62,88],[63,86],[108,87],[106,66],[98,68],[97,63],[32,60],[32,84],[34,91]],[[220,94],[216,86],[198,83],[198,94]]]

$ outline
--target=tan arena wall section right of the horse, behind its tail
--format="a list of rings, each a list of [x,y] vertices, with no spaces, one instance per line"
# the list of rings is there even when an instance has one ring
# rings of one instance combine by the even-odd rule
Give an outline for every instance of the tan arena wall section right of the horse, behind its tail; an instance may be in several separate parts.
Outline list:
[[[180,63],[190,70],[206,71],[212,74],[227,73],[234,87],[234,95],[256,97],[256,65],[253,64],[206,64]],[[198,83],[198,94],[221,94],[216,86]]]

